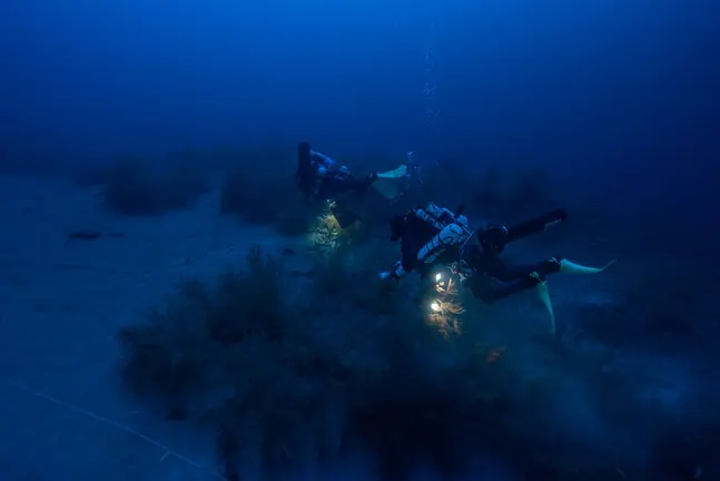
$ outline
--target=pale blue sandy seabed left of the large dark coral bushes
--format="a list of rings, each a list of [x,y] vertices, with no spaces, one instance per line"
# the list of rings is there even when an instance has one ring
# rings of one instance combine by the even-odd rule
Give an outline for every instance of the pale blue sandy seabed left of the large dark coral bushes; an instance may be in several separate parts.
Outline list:
[[[0,479],[213,479],[210,440],[120,393],[112,335],[179,277],[288,242],[218,218],[216,196],[149,219],[114,218],[93,196],[60,179],[0,178]],[[66,243],[80,228],[125,237]]]

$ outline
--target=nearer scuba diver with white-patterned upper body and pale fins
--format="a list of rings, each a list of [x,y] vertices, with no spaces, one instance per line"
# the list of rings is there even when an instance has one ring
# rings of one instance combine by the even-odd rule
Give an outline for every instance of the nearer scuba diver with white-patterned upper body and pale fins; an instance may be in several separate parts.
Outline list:
[[[381,278],[401,279],[417,271],[424,279],[436,265],[446,265],[475,297],[486,304],[536,287],[550,314],[551,333],[554,333],[555,320],[546,276],[555,273],[596,274],[612,262],[596,268],[555,256],[513,266],[501,259],[500,254],[507,243],[566,219],[564,209],[554,209],[510,227],[487,224],[474,230],[469,226],[467,217],[431,203],[426,207],[411,209],[404,216],[396,215],[391,220],[391,242],[401,242],[402,256],[392,271],[381,273]]]

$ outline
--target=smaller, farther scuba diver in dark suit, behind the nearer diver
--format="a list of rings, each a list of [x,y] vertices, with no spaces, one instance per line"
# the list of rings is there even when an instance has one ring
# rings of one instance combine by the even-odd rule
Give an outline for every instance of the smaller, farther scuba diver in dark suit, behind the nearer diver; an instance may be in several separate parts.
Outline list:
[[[377,180],[377,173],[365,178],[355,177],[347,167],[337,167],[332,158],[315,151],[306,141],[297,146],[295,183],[305,198],[332,198],[346,192],[364,193]]]

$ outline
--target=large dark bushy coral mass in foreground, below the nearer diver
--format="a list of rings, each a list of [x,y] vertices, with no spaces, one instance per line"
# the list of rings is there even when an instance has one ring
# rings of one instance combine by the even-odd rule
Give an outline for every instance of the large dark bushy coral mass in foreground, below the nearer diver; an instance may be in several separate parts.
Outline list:
[[[411,479],[418,464],[453,479],[479,453],[516,479],[559,479],[558,446],[573,445],[537,446],[554,435],[533,416],[537,400],[511,366],[427,326],[427,300],[383,288],[382,257],[338,248],[292,275],[255,248],[214,283],[186,281],[118,333],[122,380],[167,418],[211,426],[228,480],[295,479],[357,452],[379,480]]]

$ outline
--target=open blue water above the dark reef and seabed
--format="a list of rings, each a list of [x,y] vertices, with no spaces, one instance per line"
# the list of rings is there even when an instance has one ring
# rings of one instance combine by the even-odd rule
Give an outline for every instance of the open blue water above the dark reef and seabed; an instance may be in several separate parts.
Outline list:
[[[615,160],[601,155],[612,148],[654,156],[711,134],[717,10],[704,0],[10,1],[3,140],[116,154],[299,130],[410,149],[427,138],[430,108],[438,145],[424,147],[474,161],[548,145],[556,151],[544,156],[583,165]]]

